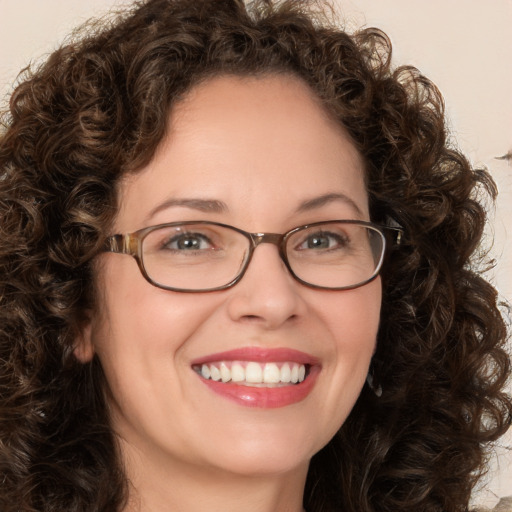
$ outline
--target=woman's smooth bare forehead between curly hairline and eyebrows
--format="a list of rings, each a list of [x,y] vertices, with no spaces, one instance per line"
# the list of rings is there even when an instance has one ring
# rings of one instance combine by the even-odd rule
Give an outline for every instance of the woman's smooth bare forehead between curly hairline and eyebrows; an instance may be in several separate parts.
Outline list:
[[[152,162],[121,184],[119,217],[143,227],[134,206],[147,213],[169,198],[287,214],[328,193],[367,210],[362,158],[310,88],[290,76],[223,76],[173,108]]]

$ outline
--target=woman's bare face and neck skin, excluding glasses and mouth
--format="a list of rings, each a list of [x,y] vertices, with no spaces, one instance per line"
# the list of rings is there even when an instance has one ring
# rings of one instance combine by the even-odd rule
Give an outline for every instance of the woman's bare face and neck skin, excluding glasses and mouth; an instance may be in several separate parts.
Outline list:
[[[179,220],[274,233],[322,220],[369,220],[363,176],[346,132],[301,81],[218,77],[174,108],[153,161],[122,181],[113,233]],[[332,193],[348,199],[298,211]],[[165,206],[183,198],[225,208]],[[97,353],[105,370],[132,484],[126,510],[301,511],[309,460],[364,384],[380,280],[314,290],[291,277],[270,244],[256,249],[240,283],[210,293],[158,289],[126,255],[103,254],[97,268],[98,312],[76,353],[83,361]],[[318,358],[312,392],[286,407],[244,407],[213,393],[191,368],[197,358],[241,347]]]

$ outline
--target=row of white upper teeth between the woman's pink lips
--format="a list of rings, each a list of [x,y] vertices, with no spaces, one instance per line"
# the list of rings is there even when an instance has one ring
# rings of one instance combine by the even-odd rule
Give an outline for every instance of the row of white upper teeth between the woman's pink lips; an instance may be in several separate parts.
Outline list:
[[[281,363],[279,363],[281,364]],[[306,377],[306,366],[298,363],[233,362],[203,364],[205,379],[239,384],[296,384]]]

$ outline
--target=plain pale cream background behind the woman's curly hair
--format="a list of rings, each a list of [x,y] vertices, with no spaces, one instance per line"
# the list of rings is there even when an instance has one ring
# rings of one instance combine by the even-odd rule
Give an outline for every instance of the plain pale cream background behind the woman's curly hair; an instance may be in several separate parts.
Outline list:
[[[124,2],[128,4],[129,2]],[[320,4],[322,2],[319,2]],[[382,28],[395,63],[413,64],[445,96],[452,134],[474,164],[487,166],[500,196],[491,212],[489,239],[498,261],[490,275],[512,301],[512,0],[334,0],[349,29]],[[122,6],[120,0],[0,0],[0,99],[18,71],[54,49],[91,16]],[[512,436],[503,445],[512,445]],[[512,495],[512,452],[499,450],[477,500],[493,505]]]

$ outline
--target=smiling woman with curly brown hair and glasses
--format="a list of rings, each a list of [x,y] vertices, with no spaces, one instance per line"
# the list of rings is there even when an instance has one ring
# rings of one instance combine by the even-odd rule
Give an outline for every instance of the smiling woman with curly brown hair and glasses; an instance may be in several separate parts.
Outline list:
[[[495,187],[384,34],[302,11],[150,0],[13,94],[1,510],[467,509]]]

